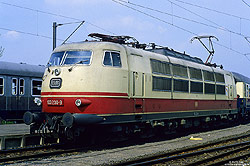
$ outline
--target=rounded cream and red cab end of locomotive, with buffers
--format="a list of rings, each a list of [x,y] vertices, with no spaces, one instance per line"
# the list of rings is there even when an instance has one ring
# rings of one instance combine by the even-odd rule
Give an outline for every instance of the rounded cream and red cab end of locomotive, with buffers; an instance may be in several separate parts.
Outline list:
[[[65,44],[53,51],[43,76],[44,122],[36,122],[32,114],[26,119],[43,131],[105,123],[102,115],[129,111],[127,97],[128,66],[122,45]]]

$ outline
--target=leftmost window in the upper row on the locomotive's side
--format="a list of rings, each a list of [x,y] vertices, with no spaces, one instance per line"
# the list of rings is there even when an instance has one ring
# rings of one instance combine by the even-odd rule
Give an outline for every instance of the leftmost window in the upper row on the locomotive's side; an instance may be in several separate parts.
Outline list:
[[[161,62],[151,59],[152,72],[155,74],[170,75],[170,65],[167,62]]]

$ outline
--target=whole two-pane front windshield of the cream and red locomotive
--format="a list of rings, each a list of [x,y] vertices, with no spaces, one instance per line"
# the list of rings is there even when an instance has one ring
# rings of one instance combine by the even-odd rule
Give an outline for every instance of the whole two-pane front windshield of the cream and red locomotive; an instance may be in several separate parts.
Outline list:
[[[58,65],[70,65],[70,64],[90,64],[92,52],[89,50],[86,51],[63,51],[55,52],[51,55],[48,65],[49,66],[58,66]],[[63,58],[65,57],[65,58]],[[65,59],[62,62],[62,59]]]

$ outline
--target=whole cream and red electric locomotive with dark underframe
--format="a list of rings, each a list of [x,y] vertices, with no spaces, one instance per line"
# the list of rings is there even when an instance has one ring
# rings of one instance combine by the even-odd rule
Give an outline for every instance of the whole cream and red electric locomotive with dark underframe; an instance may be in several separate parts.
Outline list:
[[[91,36],[101,40],[53,51],[43,76],[42,113],[24,115],[32,132],[72,138],[95,126],[123,135],[156,127],[167,133],[237,118],[231,72],[167,47],[126,45],[128,36]]]

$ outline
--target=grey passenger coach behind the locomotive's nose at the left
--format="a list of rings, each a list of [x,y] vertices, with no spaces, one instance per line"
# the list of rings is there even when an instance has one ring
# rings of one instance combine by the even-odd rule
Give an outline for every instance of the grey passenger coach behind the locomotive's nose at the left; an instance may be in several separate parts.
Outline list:
[[[34,103],[40,97],[45,66],[0,61],[0,124],[23,122],[26,111],[41,112]]]

